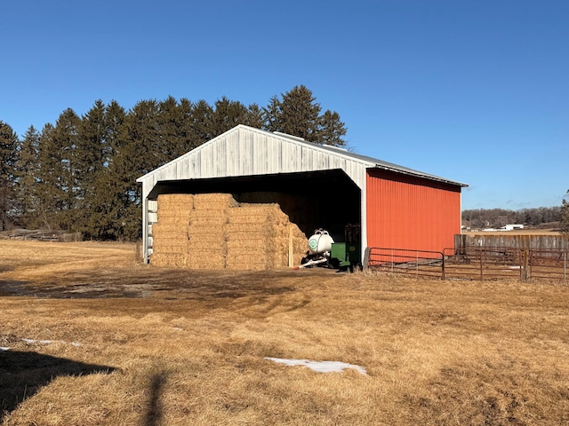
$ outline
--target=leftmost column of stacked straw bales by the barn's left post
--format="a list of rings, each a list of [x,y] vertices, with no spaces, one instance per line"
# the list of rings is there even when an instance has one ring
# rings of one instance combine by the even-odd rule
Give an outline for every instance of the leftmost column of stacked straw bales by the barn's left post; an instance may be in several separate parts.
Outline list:
[[[158,195],[158,222],[152,225],[152,263],[161,266],[188,266],[188,233],[194,211],[191,193]]]

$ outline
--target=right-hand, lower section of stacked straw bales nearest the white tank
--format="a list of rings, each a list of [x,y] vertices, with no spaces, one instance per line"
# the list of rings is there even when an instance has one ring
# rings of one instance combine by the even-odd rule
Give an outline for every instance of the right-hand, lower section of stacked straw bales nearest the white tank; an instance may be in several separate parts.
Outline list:
[[[228,269],[256,270],[300,264],[307,239],[278,204],[241,204],[228,210]]]

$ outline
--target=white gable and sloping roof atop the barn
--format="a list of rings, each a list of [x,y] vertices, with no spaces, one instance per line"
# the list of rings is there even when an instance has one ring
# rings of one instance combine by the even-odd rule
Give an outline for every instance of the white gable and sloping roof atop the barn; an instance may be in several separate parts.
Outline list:
[[[318,145],[280,132],[239,124],[217,138],[139,177],[143,196],[160,181],[239,177],[317,170],[344,170],[360,188],[366,169],[390,170],[450,185],[460,182],[355,154],[335,146]]]

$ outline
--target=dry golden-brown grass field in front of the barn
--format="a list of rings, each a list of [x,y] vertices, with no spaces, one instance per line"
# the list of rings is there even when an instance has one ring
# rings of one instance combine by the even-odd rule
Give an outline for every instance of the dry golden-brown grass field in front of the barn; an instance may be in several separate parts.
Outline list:
[[[564,286],[198,272],[135,264],[126,244],[0,241],[0,346],[5,425],[569,424]]]

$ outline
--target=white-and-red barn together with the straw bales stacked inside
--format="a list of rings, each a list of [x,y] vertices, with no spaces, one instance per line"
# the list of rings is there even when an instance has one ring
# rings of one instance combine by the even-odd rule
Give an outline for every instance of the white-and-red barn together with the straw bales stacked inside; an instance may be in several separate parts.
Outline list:
[[[238,125],[137,179],[144,258],[208,269],[298,264],[325,228],[361,248],[437,250],[461,233],[460,182]]]

